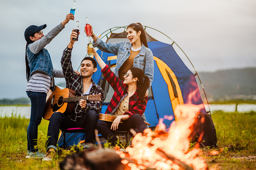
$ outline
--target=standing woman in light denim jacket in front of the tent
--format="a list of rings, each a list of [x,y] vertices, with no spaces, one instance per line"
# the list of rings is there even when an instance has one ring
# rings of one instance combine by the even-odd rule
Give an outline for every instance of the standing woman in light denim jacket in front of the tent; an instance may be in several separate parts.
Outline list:
[[[85,27],[84,32],[86,32]],[[126,32],[130,42],[105,43],[94,34],[91,26],[92,38],[94,40],[93,46],[101,51],[117,55],[114,73],[119,79],[124,80],[125,73],[131,67],[139,68],[143,70],[144,74],[149,78],[150,88],[154,75],[154,59],[151,50],[147,46],[145,30],[140,23],[133,23],[127,27]],[[148,90],[146,91],[146,96],[147,95]],[[146,121],[144,114],[142,117],[144,121]]]

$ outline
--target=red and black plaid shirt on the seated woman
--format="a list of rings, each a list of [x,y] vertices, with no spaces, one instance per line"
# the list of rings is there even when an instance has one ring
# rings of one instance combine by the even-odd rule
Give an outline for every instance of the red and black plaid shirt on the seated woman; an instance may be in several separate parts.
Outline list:
[[[122,100],[128,95],[128,91],[127,91],[128,85],[123,84],[123,81],[120,80],[114,74],[114,72],[110,70],[110,67],[108,65],[106,65],[106,67],[102,69],[102,73],[104,74],[104,77],[107,79],[107,81],[115,91],[105,113],[105,114],[113,114],[116,111],[116,109],[119,107]],[[136,89],[135,93],[129,98],[129,111],[126,111],[124,113],[124,114],[129,114],[130,117],[133,114],[142,115],[146,109],[146,103],[148,101],[148,97],[145,97],[146,103],[143,104],[137,94],[138,94],[138,88]]]

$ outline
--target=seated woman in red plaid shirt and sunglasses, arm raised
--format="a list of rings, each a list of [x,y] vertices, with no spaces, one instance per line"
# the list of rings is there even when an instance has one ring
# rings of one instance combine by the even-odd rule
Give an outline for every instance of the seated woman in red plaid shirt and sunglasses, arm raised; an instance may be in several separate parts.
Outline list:
[[[119,79],[94,48],[93,53],[102,68],[104,77],[114,89],[113,97],[105,114],[117,116],[113,122],[99,120],[96,127],[103,137],[115,145],[117,137],[113,133],[114,130],[128,131],[133,128],[137,133],[142,133],[146,128],[141,115],[146,109],[148,97],[145,97],[145,94],[150,82],[141,69],[134,67],[126,72],[124,81]],[[121,120],[125,120],[124,123],[120,123]]]

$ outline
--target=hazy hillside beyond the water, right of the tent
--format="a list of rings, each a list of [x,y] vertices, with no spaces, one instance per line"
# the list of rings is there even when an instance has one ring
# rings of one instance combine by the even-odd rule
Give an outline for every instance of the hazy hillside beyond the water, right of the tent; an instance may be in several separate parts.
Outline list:
[[[213,100],[256,99],[256,68],[199,72],[206,95]]]

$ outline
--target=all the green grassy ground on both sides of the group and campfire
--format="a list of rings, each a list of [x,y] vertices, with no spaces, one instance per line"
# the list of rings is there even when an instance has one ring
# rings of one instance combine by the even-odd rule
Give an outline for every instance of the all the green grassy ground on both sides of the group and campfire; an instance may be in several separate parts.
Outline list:
[[[216,111],[212,114],[218,137],[217,148],[203,148],[209,168],[256,169],[256,112],[234,113]],[[0,169],[59,169],[61,161],[70,151],[63,151],[51,162],[26,159],[27,126],[29,119],[13,114],[0,117]],[[38,147],[45,152],[48,121],[38,127]],[[217,150],[219,154],[211,155]]]

